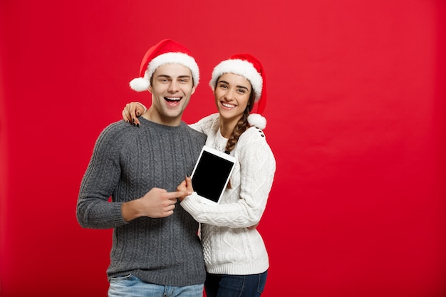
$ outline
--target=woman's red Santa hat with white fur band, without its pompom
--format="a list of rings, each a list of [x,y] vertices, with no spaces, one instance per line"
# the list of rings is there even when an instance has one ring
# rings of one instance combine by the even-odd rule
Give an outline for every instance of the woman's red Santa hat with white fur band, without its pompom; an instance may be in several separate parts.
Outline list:
[[[215,90],[217,79],[224,73],[242,75],[249,80],[254,90],[255,102],[259,103],[257,113],[263,113],[266,106],[266,78],[260,61],[249,53],[237,53],[220,62],[212,71],[212,78],[209,81],[212,90]]]

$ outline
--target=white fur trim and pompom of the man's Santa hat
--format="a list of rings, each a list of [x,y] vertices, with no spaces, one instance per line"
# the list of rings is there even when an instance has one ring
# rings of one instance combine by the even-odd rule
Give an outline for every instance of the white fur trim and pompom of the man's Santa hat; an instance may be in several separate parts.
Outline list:
[[[150,61],[147,70],[144,73],[144,78],[134,78],[130,81],[130,88],[137,92],[149,90],[150,78],[152,78],[152,75],[157,68],[164,64],[181,64],[182,66],[189,68],[192,73],[192,79],[194,80],[194,86],[198,85],[199,69],[194,58],[185,53],[163,53]]]

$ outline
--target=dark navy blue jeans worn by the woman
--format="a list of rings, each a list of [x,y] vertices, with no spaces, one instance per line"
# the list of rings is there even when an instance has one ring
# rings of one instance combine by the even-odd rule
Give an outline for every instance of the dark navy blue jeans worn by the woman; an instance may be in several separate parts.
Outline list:
[[[268,271],[260,274],[235,276],[206,274],[204,289],[207,297],[259,297],[263,293]]]

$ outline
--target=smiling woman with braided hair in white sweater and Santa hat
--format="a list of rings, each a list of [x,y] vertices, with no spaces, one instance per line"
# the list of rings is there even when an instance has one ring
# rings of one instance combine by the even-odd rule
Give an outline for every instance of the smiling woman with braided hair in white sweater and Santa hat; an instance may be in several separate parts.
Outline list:
[[[207,297],[260,296],[266,282],[268,254],[259,232],[250,228],[261,219],[276,170],[261,130],[266,120],[250,114],[254,103],[259,103],[259,113],[264,109],[265,83],[263,67],[253,56],[237,54],[222,61],[209,83],[219,113],[191,125],[207,135],[206,145],[237,158],[218,205],[205,204],[193,192],[190,177],[178,186],[191,193],[180,198],[181,206],[201,223]],[[127,119],[134,104],[123,111]]]

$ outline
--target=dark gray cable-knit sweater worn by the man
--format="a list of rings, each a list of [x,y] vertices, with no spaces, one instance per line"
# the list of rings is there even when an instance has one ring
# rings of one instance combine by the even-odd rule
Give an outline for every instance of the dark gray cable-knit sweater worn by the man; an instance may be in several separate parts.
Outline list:
[[[180,204],[170,217],[140,217],[129,223],[121,204],[152,187],[175,191],[192,172],[206,136],[185,123],[170,127],[144,118],[140,122],[139,128],[113,123],[98,137],[81,184],[78,222],[85,228],[113,228],[108,278],[133,274],[160,285],[204,283],[198,223]]]

